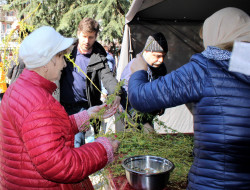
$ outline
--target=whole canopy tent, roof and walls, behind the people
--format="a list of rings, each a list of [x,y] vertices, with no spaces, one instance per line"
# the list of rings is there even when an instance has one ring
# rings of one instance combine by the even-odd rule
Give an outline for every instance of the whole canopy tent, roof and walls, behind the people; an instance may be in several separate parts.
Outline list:
[[[164,62],[171,72],[203,50],[198,33],[204,19],[224,7],[237,7],[249,14],[249,4],[249,0],[134,0],[125,17],[117,79],[128,62],[142,51],[150,34],[162,32],[167,38],[169,52]],[[181,105],[166,109],[159,119],[179,132],[192,133],[191,111],[190,105]]]

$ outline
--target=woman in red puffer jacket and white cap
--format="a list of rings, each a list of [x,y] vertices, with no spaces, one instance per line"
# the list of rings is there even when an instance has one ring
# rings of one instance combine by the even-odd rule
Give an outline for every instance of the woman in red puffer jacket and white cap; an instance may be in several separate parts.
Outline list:
[[[119,142],[97,138],[74,148],[74,135],[105,105],[68,116],[52,96],[74,42],[44,26],[24,39],[19,56],[26,69],[6,91],[0,107],[0,189],[85,189],[88,175],[113,159]],[[105,112],[104,118],[115,113]],[[84,125],[83,125],[84,124]]]

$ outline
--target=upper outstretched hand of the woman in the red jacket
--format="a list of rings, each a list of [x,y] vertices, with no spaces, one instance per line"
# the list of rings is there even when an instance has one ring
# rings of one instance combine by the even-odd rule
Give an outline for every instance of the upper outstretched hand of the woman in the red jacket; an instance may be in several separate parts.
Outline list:
[[[111,108],[108,108],[107,107],[107,104],[102,104],[100,106],[93,106],[93,107],[90,107],[87,112],[88,112],[88,115],[90,118],[94,118],[97,116],[97,113],[101,110],[105,108],[105,112],[103,115],[101,115],[101,118],[102,119],[107,119],[109,117],[111,117],[112,115],[114,115],[116,113],[116,107],[111,107]]]

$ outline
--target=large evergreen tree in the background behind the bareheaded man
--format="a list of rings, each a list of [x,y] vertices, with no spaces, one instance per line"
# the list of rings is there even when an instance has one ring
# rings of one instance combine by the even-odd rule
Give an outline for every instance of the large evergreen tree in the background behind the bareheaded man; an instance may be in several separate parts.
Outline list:
[[[101,25],[99,38],[113,42],[122,40],[125,14],[132,0],[8,0],[7,10],[15,9],[18,17],[28,15],[40,3],[36,14],[27,22],[36,27],[49,25],[61,34],[76,37],[78,23],[84,17],[96,19]]]

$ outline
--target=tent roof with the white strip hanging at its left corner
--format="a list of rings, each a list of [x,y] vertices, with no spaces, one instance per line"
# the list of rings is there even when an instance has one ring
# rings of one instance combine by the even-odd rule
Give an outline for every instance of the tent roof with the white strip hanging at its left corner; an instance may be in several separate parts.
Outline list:
[[[117,79],[130,60],[130,28],[133,20],[203,21],[224,7],[238,7],[250,14],[249,0],[134,0],[125,17]]]

